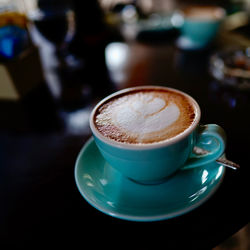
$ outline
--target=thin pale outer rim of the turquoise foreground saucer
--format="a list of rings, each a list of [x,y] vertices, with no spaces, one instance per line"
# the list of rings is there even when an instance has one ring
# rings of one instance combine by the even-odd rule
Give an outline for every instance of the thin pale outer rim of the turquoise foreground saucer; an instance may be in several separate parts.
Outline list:
[[[93,136],[91,136],[87,140],[87,142],[84,144],[84,146],[82,147],[82,149],[80,150],[80,152],[77,156],[77,160],[75,163],[75,169],[74,169],[74,177],[75,177],[77,189],[80,192],[80,194],[82,195],[82,197],[95,209],[97,209],[98,211],[100,211],[104,214],[107,214],[109,216],[112,216],[112,217],[118,218],[118,219],[122,219],[122,220],[135,221],[135,222],[154,222],[154,221],[162,221],[162,220],[175,218],[177,216],[184,215],[188,212],[191,212],[195,208],[201,206],[203,203],[205,203],[207,200],[209,200],[214,195],[214,193],[218,190],[221,183],[223,182],[223,179],[224,179],[225,173],[226,173],[226,168],[223,167],[222,168],[223,172],[222,172],[222,175],[220,177],[220,180],[218,181],[218,183],[216,183],[216,185],[213,187],[213,189],[204,198],[202,198],[200,201],[194,203],[193,205],[188,206],[187,208],[180,209],[176,212],[154,215],[154,216],[135,216],[135,215],[128,215],[128,214],[119,213],[119,212],[113,212],[113,211],[111,212],[109,209],[104,208],[101,204],[99,204],[99,203],[95,202],[93,199],[89,198],[88,192],[81,189],[80,181],[78,180],[77,172],[78,172],[78,169],[80,167],[80,164],[79,164],[80,158],[82,157],[83,152],[89,147],[89,145],[91,143],[95,143]],[[218,168],[219,167],[221,167],[221,166],[218,166]],[[138,184],[138,185],[141,185],[141,184]]]

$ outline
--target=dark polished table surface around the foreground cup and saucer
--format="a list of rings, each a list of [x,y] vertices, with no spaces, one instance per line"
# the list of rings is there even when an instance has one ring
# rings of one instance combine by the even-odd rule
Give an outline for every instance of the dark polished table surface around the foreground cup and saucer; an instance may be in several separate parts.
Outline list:
[[[61,98],[43,83],[20,102],[0,102],[1,249],[211,249],[249,222],[250,95],[224,87],[209,75],[209,56],[218,48],[185,52],[173,41],[125,46],[128,56],[119,68],[119,84],[103,80],[100,65],[93,64],[96,68],[82,85],[72,78],[74,72],[67,72],[71,85],[62,84]],[[241,169],[228,169],[216,193],[185,215],[130,222],[90,206],[76,187],[74,167],[91,136],[88,117],[93,105],[115,89],[150,84],[193,96],[202,110],[201,123],[225,129],[227,157]],[[84,90],[83,98],[77,102],[79,89]]]

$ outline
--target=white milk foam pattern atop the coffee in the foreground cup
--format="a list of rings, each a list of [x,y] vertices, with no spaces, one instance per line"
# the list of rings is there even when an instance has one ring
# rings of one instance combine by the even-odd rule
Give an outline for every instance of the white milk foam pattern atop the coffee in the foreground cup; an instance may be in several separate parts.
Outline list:
[[[152,98],[149,94],[133,96],[133,100],[124,107],[114,107],[111,120],[127,133],[136,133],[139,137],[157,132],[173,124],[180,115],[174,103],[166,104],[161,98]]]

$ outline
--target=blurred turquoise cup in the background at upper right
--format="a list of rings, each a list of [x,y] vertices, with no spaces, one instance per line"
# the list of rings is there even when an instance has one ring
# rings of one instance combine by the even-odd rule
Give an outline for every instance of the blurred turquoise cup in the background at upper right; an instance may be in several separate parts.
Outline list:
[[[211,16],[207,14],[209,12],[211,12]],[[182,37],[197,46],[205,47],[217,35],[225,11],[220,7],[189,6],[183,10],[182,15]]]

